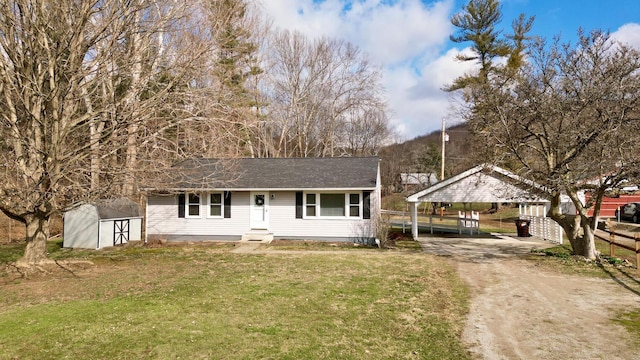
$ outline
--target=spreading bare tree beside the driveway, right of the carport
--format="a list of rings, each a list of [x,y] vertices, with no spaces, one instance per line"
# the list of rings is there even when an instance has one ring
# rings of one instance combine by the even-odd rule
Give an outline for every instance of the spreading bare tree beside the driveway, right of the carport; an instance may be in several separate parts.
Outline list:
[[[631,150],[640,130],[639,75],[637,51],[606,33],[580,32],[574,46],[538,41],[517,74],[496,73],[471,89],[467,114],[478,143],[547,189],[549,216],[573,252],[590,259],[602,195],[640,172],[640,154]],[[592,203],[580,201],[582,190],[594,192]],[[563,194],[577,214],[561,212]]]

